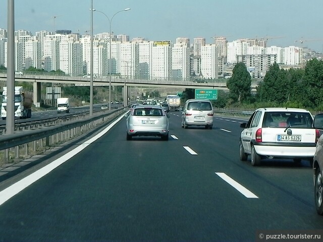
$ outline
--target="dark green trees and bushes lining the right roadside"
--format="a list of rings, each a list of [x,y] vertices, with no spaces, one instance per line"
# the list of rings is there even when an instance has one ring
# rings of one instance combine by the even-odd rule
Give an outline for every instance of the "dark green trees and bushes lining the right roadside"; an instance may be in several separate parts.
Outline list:
[[[251,77],[243,63],[238,63],[227,80],[229,91],[219,90],[213,106],[226,109],[254,110],[258,107],[296,107],[323,110],[323,61],[311,59],[304,69],[270,67],[255,94],[251,93]],[[194,89],[185,89],[182,101],[194,98]]]

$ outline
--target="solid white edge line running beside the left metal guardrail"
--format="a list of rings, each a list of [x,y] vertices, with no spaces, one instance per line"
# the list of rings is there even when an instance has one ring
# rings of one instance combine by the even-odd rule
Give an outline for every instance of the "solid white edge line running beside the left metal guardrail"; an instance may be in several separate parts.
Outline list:
[[[33,184],[35,181],[43,177],[44,175],[48,174],[53,169],[57,168],[59,165],[63,164],[73,156],[75,156],[77,153],[81,152],[83,149],[85,149],[87,146],[89,146],[91,143],[96,141],[98,138],[103,136],[106,132],[108,132],[115,124],[117,124],[122,118],[124,117],[124,114],[122,114],[118,119],[116,119],[113,123],[111,123],[108,127],[106,127],[102,132],[95,135],[88,141],[85,141],[83,144],[79,145],[74,150],[71,150],[67,154],[61,156],[57,160],[51,162],[50,164],[42,167],[41,169],[35,171],[34,173],[26,176],[25,178],[17,181],[17,183],[11,185],[10,187],[6,188],[3,191],[0,191],[0,205],[11,199],[16,194],[20,193],[22,190]]]

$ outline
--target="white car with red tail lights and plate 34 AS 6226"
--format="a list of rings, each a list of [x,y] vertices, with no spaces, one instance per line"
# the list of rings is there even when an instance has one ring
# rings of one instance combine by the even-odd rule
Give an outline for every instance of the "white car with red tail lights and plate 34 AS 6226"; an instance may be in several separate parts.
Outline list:
[[[313,128],[313,117],[301,108],[258,108],[248,123],[240,125],[240,160],[251,155],[251,164],[262,158],[307,159],[312,165],[319,131]]]

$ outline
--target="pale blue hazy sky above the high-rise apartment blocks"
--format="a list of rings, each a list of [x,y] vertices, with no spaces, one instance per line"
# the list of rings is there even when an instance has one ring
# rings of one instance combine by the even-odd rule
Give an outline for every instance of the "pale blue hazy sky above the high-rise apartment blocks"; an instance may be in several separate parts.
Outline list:
[[[7,29],[8,0],[0,0],[0,28]],[[15,29],[90,30],[91,0],[15,0]],[[323,52],[323,0],[93,0],[93,8],[112,20],[115,34],[146,40],[214,36],[228,41],[270,37],[268,44],[309,47]],[[54,16],[57,16],[54,18]],[[109,21],[93,13],[93,32],[109,32]],[[274,37],[274,38],[272,38]],[[295,42],[295,40],[311,40]]]

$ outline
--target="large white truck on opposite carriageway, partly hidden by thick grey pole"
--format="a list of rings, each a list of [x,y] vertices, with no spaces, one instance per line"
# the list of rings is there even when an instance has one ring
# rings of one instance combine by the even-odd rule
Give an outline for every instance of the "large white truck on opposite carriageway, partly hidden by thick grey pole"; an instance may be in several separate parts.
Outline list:
[[[7,87],[4,87],[2,93],[3,100],[1,105],[1,117],[2,119],[7,118]],[[31,118],[31,105],[32,105],[32,94],[26,93],[22,86],[15,87],[15,117],[18,118]]]

